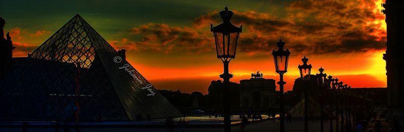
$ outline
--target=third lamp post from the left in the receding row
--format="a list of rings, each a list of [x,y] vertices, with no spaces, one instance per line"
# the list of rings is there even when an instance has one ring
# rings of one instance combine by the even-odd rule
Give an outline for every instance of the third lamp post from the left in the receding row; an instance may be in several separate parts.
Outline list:
[[[310,73],[312,71],[312,64],[307,64],[307,61],[309,61],[309,58],[306,58],[306,55],[304,58],[301,58],[301,61],[303,61],[303,64],[297,67],[299,68],[300,72],[300,79],[304,81],[305,83],[305,132],[309,131],[309,126],[308,126],[308,104],[309,104],[309,97],[307,95],[307,83],[310,81]]]

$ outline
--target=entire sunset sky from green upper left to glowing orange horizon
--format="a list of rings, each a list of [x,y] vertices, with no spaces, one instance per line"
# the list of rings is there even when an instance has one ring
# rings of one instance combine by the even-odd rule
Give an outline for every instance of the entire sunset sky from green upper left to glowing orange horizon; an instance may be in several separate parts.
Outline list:
[[[264,73],[264,78],[278,81],[270,52],[282,37],[285,47],[291,51],[285,90],[291,90],[294,79],[299,76],[297,65],[302,63],[303,55],[310,59],[313,74],[322,66],[325,73],[354,88],[386,87],[382,59],[386,25],[380,12],[381,3],[382,0],[227,3],[235,12],[233,24],[243,24],[236,58],[230,62],[230,73],[234,75],[231,81],[239,83],[258,70]],[[84,11],[87,7],[77,11],[117,50],[127,49],[128,61],[156,88],[207,94],[210,82],[219,80],[218,75],[223,73],[209,25],[221,22],[218,12],[224,4],[201,2],[195,5],[182,1],[170,4],[184,8],[177,11],[172,8],[176,6],[161,3],[137,4],[144,8],[160,6],[156,10],[162,11],[156,13],[166,15],[144,15],[140,11],[114,7],[116,5],[108,6],[116,9],[108,13],[96,7],[92,10],[100,13]],[[4,12],[12,14],[9,10]],[[70,15],[70,11],[60,11],[56,16],[28,13],[27,18],[43,18],[31,23],[21,23],[25,21],[21,15],[24,14],[5,17],[5,30],[10,32],[17,47],[14,56],[26,56],[74,14]]]

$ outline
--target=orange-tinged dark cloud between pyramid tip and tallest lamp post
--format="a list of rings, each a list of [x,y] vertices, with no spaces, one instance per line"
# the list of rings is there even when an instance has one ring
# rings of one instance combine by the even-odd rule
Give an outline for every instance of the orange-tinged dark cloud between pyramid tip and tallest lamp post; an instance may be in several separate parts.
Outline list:
[[[129,41],[143,51],[206,52],[214,46],[212,37],[189,27],[149,23],[132,28],[129,34]],[[140,41],[133,39],[136,37],[140,37]]]

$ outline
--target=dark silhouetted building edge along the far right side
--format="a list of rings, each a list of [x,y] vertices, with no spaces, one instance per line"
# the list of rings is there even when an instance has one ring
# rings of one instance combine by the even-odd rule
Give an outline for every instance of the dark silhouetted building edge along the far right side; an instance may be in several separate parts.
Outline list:
[[[387,75],[387,120],[393,131],[404,131],[404,3],[398,0],[386,0],[382,5],[387,25],[386,60]]]

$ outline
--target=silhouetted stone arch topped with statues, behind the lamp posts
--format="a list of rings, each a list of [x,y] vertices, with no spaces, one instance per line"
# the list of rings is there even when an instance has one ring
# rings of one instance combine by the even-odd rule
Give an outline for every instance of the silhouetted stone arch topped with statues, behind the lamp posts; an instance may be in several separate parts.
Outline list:
[[[251,74],[250,79],[240,80],[240,108],[276,106],[275,80],[263,78],[263,74]]]

